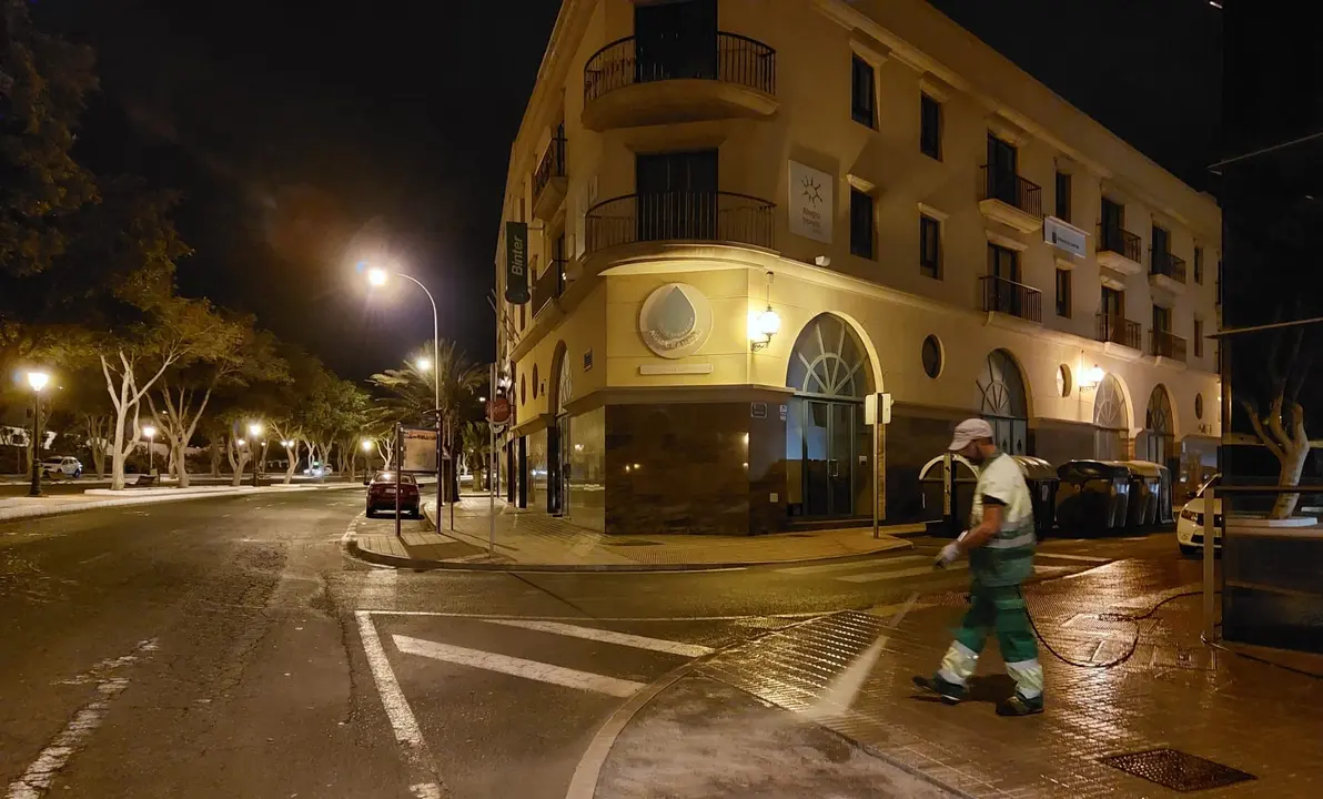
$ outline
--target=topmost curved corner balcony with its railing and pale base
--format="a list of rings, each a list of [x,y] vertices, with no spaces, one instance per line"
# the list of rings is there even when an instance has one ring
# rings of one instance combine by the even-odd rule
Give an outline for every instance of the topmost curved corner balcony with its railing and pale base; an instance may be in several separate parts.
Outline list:
[[[606,131],[777,112],[777,50],[736,33],[640,53],[614,41],[583,66],[583,127]]]

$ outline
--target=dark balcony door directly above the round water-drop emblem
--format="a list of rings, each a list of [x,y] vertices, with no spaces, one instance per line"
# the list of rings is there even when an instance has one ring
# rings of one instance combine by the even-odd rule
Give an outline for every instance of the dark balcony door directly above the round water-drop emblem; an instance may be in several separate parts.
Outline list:
[[[639,153],[638,241],[717,238],[717,151]]]

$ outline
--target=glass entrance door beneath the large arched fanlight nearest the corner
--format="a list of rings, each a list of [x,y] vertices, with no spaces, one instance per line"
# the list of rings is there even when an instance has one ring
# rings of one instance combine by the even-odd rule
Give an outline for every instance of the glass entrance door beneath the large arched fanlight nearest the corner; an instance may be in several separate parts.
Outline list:
[[[855,516],[855,438],[863,409],[853,402],[818,400],[803,402],[802,407],[804,515],[819,519]]]

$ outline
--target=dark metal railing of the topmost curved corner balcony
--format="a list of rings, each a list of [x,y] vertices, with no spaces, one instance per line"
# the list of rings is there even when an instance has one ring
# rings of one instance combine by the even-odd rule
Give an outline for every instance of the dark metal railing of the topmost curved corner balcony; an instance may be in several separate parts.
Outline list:
[[[676,79],[721,81],[777,94],[777,50],[761,41],[717,32],[706,42],[676,45],[658,54],[640,54],[632,36],[606,45],[583,66],[583,102],[635,83]]]

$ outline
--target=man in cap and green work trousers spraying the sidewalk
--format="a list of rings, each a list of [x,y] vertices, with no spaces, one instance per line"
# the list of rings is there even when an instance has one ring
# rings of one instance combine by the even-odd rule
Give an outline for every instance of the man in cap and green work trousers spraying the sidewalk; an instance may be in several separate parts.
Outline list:
[[[990,628],[996,630],[1005,669],[1015,693],[998,704],[999,716],[1043,712],[1043,667],[1020,585],[1033,574],[1033,503],[1015,459],[998,450],[992,426],[983,419],[957,425],[949,447],[979,470],[974,488],[970,529],[942,548],[934,562],[946,568],[960,556],[970,558],[970,609],[955,640],[931,677],[914,684],[954,705],[966,696],[979,652]]]

